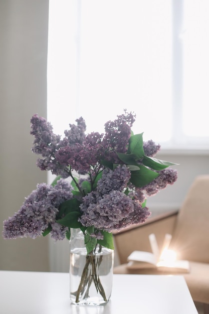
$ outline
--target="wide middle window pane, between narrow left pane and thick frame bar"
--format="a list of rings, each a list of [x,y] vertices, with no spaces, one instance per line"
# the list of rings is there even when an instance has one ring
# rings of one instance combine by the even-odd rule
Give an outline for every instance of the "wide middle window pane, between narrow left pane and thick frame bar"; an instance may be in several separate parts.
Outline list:
[[[91,130],[127,108],[135,133],[170,138],[171,20],[166,0],[82,2],[79,107]]]

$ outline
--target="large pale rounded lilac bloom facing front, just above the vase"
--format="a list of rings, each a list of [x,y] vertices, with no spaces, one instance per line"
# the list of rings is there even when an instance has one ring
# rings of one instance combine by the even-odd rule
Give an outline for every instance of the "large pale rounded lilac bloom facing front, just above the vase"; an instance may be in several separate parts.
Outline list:
[[[85,198],[88,199],[87,202]],[[96,229],[111,232],[121,220],[134,211],[133,201],[120,191],[111,191],[99,199],[94,195],[92,203],[89,203],[89,196],[83,199],[84,203],[80,205],[83,214],[79,221],[86,227],[94,226]]]

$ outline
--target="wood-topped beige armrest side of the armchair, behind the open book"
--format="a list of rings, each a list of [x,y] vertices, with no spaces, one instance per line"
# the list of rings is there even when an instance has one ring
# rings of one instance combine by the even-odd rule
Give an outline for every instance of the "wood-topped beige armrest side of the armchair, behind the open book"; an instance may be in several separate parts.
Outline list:
[[[134,250],[151,252],[149,234],[154,233],[161,249],[165,233],[172,234],[178,211],[169,212],[145,223],[134,225],[121,231],[114,231],[114,243],[120,264],[127,262],[127,257]]]

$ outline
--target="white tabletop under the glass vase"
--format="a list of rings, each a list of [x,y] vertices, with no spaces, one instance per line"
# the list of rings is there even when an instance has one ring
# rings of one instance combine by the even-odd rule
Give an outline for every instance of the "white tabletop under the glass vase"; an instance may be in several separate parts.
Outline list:
[[[69,274],[0,271],[1,314],[197,314],[183,276],[114,275],[105,306],[70,303]]]

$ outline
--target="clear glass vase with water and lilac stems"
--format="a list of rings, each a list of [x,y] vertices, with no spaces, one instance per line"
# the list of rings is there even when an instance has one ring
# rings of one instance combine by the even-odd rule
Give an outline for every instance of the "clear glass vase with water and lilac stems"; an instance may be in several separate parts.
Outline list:
[[[103,305],[110,299],[114,251],[97,245],[87,255],[84,235],[71,229],[70,298],[74,304]]]

